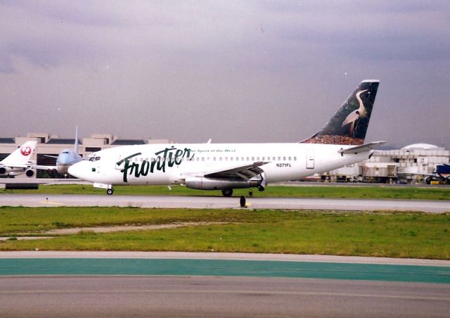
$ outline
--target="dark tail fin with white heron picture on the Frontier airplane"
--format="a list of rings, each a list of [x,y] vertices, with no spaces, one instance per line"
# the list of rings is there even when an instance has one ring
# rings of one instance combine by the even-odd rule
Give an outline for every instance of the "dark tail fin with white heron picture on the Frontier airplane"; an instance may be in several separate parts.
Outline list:
[[[362,81],[319,132],[303,144],[362,145],[380,81]]]

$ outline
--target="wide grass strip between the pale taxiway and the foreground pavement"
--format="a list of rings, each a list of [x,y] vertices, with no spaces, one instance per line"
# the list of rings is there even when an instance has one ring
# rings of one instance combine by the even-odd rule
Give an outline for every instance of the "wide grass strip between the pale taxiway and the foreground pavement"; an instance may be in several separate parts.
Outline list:
[[[229,222],[108,234],[84,231],[55,239],[2,241],[0,250],[174,250],[450,259],[449,214],[139,208],[0,211],[0,231],[8,234],[13,234],[11,227],[18,227],[18,234],[69,224],[94,227],[136,222]],[[40,220],[40,227],[32,223],[36,219],[30,222],[43,214],[47,215],[45,221]]]

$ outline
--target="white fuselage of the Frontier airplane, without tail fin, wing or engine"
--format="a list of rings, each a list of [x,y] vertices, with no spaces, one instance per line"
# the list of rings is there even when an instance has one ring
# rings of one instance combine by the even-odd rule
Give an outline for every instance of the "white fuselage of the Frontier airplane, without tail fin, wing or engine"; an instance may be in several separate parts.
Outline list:
[[[99,184],[183,184],[186,177],[264,163],[266,183],[308,177],[365,160],[372,151],[341,154],[329,144],[146,144],[98,151],[69,173]]]

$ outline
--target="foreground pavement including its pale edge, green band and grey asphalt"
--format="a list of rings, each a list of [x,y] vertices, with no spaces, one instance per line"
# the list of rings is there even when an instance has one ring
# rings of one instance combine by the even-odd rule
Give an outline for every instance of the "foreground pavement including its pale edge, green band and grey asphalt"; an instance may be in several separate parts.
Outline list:
[[[448,317],[450,284],[439,277],[449,268],[323,255],[1,252],[0,308],[6,317]]]

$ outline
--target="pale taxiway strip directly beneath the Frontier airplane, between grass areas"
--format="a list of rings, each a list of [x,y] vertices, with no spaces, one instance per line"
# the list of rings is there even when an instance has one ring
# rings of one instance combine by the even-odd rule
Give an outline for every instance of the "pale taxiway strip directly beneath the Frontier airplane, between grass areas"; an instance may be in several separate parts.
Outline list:
[[[333,198],[248,198],[248,208],[450,212],[450,201],[373,200]],[[139,208],[238,208],[239,198],[219,196],[106,196],[106,195],[0,195],[0,205],[8,206],[122,206]]]

